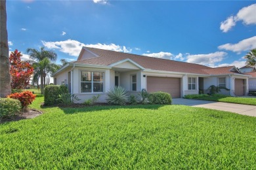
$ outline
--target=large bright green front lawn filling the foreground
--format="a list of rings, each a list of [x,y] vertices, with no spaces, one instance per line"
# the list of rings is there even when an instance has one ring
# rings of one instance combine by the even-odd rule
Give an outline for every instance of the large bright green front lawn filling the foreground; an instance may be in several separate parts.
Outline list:
[[[181,105],[41,108],[0,124],[0,169],[256,169],[256,118]]]

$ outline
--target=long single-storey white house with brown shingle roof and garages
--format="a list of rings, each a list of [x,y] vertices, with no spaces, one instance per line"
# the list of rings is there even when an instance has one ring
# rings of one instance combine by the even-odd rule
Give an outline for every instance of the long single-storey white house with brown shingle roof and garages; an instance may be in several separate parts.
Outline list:
[[[211,68],[204,65],[151,58],[123,52],[83,47],[77,61],[70,62],[54,73],[54,84],[66,84],[83,102],[114,86],[123,86],[130,93],[168,92],[173,98],[187,94],[207,93],[211,85],[228,90],[228,95],[246,95],[248,77],[234,66]]]

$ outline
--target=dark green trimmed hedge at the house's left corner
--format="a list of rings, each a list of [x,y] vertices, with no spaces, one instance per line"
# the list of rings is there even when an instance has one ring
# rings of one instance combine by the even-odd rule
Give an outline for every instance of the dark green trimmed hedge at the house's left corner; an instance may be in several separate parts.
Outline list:
[[[57,100],[62,93],[68,93],[65,85],[48,85],[45,87],[45,105],[50,106],[59,103]]]

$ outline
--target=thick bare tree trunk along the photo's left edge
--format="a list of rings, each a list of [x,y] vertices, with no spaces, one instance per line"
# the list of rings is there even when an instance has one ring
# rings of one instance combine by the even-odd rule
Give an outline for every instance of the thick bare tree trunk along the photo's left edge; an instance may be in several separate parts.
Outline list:
[[[11,94],[11,75],[9,72],[9,46],[7,34],[6,1],[0,1],[0,97]]]

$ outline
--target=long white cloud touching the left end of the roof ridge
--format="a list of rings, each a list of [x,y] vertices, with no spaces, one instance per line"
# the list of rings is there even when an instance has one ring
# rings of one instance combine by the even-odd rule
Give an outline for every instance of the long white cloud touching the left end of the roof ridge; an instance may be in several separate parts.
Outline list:
[[[104,50],[112,50],[116,52],[131,52],[131,48],[125,46],[119,46],[116,44],[83,44],[82,42],[68,39],[66,41],[46,42],[42,41],[43,45],[50,49],[60,50],[69,54],[70,56],[78,56],[83,46],[91,48],[100,48]]]

